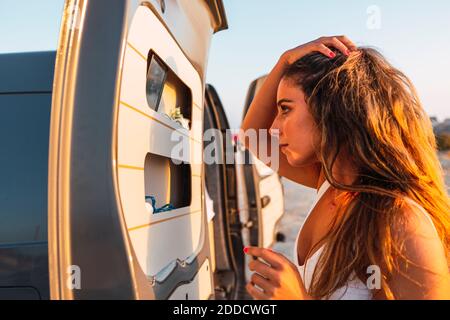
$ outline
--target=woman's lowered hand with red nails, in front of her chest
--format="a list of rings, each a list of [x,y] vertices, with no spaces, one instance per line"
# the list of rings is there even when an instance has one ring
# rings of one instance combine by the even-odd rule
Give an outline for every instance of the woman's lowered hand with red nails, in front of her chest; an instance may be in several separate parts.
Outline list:
[[[285,256],[270,249],[246,247],[244,252],[253,256],[248,267],[255,271],[245,288],[256,300],[311,299],[305,290],[297,267]],[[260,259],[258,259],[260,258]],[[263,262],[264,260],[264,262]],[[257,285],[261,289],[255,287]]]

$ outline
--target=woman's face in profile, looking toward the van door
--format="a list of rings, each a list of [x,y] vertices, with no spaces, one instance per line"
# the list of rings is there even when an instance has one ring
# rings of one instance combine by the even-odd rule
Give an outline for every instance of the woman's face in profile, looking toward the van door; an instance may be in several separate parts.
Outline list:
[[[303,91],[289,79],[282,79],[278,85],[277,109],[270,129],[279,130],[280,151],[289,164],[300,167],[318,162],[314,148],[319,137],[317,127]]]

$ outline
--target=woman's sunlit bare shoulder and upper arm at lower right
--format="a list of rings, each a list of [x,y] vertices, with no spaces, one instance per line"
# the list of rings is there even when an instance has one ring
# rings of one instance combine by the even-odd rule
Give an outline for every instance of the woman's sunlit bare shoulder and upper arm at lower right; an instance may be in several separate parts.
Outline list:
[[[403,299],[450,299],[450,276],[445,246],[431,216],[410,199],[392,227],[398,270],[390,279],[395,295]]]

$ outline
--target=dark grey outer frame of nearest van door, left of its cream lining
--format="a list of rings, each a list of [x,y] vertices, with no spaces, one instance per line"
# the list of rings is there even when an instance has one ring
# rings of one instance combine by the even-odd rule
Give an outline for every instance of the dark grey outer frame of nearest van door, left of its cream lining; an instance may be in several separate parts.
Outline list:
[[[50,117],[51,299],[137,297],[111,143],[127,6],[65,3]]]

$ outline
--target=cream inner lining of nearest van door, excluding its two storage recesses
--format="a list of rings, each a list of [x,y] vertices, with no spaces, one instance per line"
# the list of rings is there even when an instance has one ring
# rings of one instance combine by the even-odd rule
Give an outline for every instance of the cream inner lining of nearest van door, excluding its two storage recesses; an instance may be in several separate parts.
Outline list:
[[[177,144],[176,141],[171,141],[171,134],[179,125],[151,109],[147,103],[147,56],[150,50],[153,50],[192,92],[191,130],[180,130],[189,137],[186,140],[188,148],[185,150],[188,152],[182,157],[171,154],[173,146]],[[125,222],[139,265],[147,276],[156,275],[176,259],[185,260],[203,243],[200,241],[203,214],[201,106],[203,88],[197,71],[153,12],[140,6],[129,30],[122,70],[117,167]],[[190,206],[156,214],[147,211],[144,165],[148,153],[169,158],[173,156],[174,159],[191,164]],[[200,272],[200,277],[205,276],[210,277],[210,271],[205,275]],[[210,282],[207,286],[210,292]]]

